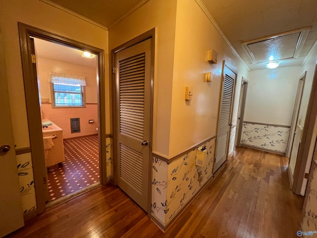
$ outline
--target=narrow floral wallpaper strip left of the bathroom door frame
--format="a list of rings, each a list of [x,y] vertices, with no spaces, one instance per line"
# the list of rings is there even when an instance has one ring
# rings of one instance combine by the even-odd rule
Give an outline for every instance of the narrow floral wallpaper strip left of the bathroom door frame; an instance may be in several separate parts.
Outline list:
[[[16,156],[23,213],[36,209],[31,153]]]

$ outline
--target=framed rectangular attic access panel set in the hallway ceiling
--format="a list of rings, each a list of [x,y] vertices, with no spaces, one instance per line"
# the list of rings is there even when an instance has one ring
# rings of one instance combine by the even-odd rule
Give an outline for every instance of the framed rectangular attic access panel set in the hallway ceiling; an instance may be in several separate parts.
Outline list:
[[[254,64],[272,60],[296,59],[300,54],[309,29],[308,27],[269,36],[242,43],[241,45]]]

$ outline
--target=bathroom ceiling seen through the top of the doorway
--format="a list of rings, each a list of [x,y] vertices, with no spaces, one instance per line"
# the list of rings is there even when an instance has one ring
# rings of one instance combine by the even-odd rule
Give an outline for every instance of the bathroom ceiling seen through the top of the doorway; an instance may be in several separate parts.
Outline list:
[[[97,57],[82,57],[83,51],[34,38],[35,51],[38,58],[75,64],[83,67],[97,68]]]

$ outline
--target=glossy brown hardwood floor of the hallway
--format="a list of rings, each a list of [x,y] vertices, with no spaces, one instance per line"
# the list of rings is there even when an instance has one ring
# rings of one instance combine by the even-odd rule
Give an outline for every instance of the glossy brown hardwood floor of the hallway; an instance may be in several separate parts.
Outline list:
[[[288,159],[250,148],[234,157],[164,234],[119,188],[100,186],[38,216],[12,238],[292,238],[304,198]]]

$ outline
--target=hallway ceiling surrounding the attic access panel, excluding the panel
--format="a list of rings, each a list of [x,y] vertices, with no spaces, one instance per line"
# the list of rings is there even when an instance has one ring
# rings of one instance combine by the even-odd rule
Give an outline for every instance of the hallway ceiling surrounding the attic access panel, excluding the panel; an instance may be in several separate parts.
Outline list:
[[[202,0],[226,38],[250,70],[253,64],[241,43],[312,26],[298,59],[279,67],[301,65],[317,39],[317,0]]]

